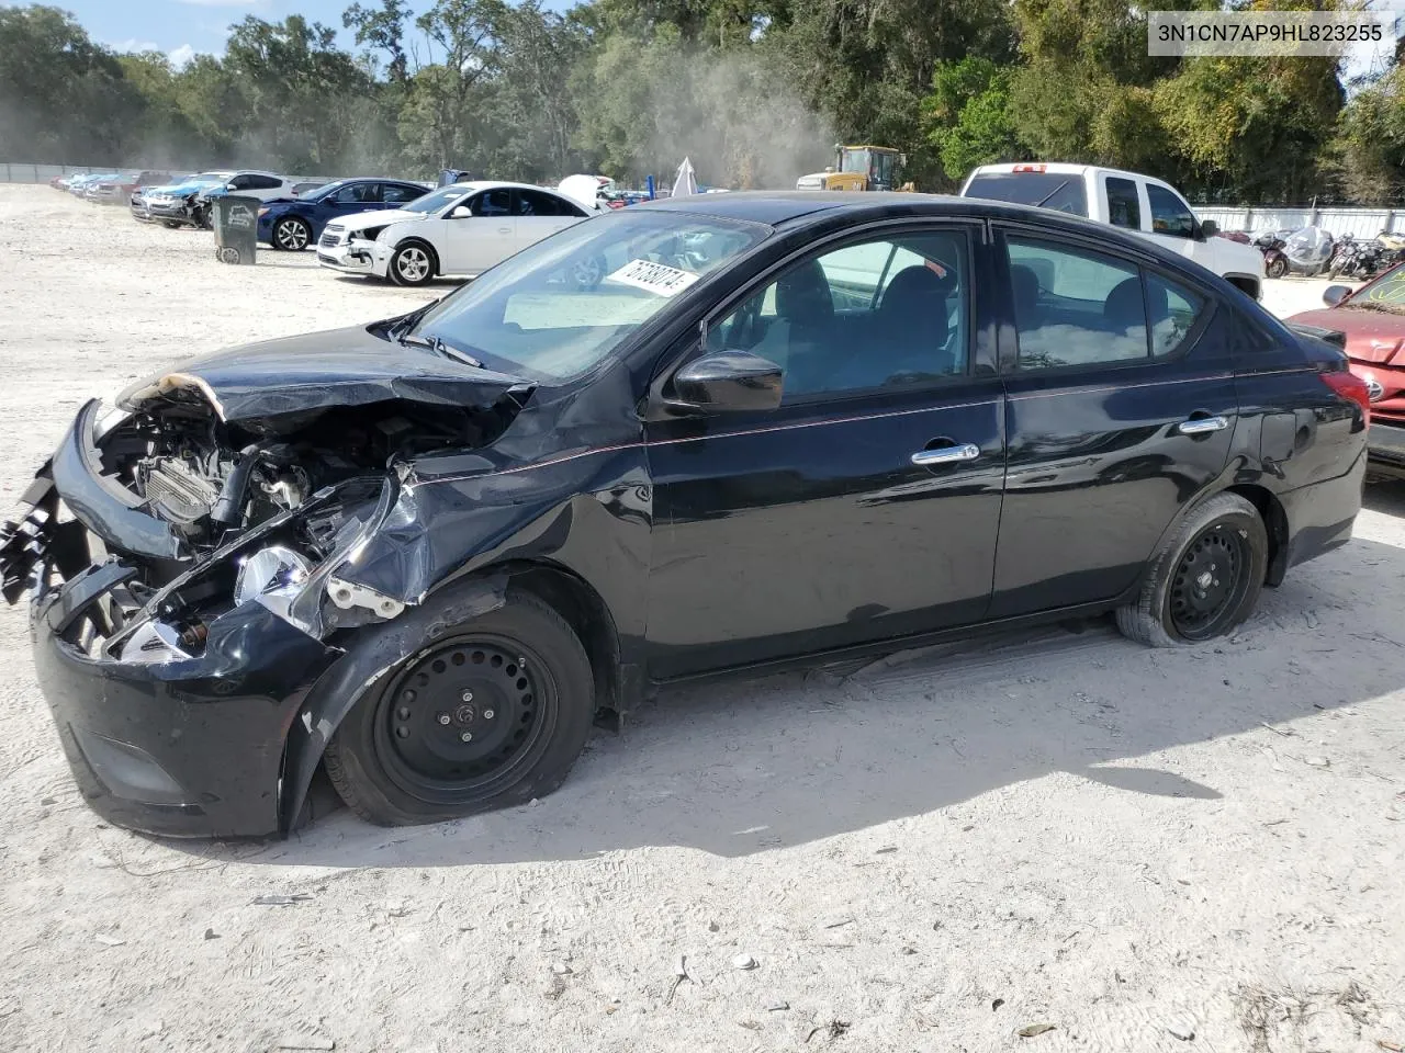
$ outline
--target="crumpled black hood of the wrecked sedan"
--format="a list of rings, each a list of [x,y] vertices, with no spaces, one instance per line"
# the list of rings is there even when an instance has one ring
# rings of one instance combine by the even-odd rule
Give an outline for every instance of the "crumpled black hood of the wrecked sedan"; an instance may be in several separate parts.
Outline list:
[[[534,385],[367,329],[336,329],[219,351],[138,380],[118,396],[136,410],[166,395],[198,392],[223,421],[267,421],[384,402],[472,409],[510,396],[524,404]]]

